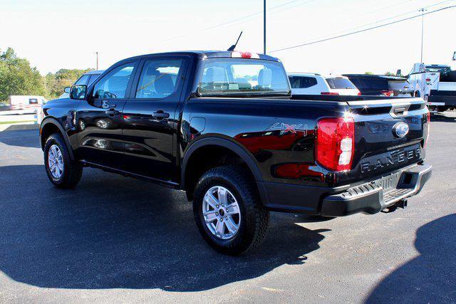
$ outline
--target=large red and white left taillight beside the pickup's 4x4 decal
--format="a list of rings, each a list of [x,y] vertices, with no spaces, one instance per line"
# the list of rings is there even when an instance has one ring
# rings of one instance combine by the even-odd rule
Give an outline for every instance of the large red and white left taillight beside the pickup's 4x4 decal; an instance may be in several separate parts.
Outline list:
[[[316,161],[326,169],[351,169],[355,152],[355,122],[353,117],[318,120]]]

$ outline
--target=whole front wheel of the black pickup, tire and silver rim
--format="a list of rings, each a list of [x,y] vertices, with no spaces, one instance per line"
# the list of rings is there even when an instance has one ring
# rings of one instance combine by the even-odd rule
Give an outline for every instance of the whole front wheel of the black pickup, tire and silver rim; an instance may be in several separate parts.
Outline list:
[[[81,180],[83,167],[71,160],[62,135],[49,136],[44,146],[44,166],[49,180],[58,188],[73,188]]]

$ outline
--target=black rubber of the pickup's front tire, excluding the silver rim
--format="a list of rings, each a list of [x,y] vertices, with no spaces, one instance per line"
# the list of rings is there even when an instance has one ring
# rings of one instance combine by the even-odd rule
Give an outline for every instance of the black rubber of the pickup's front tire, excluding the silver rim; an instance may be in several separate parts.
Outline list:
[[[51,149],[53,145],[58,147],[63,158],[63,173],[59,178],[53,176],[48,163],[49,149]],[[83,167],[81,163],[71,160],[68,148],[66,147],[66,142],[63,140],[62,135],[58,133],[54,133],[46,139],[46,145],[44,145],[44,167],[46,168],[49,180],[56,187],[63,189],[75,187],[81,180],[83,174]]]

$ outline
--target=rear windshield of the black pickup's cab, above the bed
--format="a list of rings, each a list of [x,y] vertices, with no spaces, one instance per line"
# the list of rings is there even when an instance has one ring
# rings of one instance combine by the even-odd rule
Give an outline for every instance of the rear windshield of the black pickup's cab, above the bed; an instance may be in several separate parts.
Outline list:
[[[290,92],[284,66],[257,59],[211,58],[204,61],[201,95],[275,94]]]

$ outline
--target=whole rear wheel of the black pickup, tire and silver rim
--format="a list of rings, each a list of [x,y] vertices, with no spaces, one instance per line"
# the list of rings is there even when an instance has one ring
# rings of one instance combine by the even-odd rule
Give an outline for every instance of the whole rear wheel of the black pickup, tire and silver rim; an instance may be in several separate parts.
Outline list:
[[[233,256],[257,248],[269,223],[254,181],[237,166],[203,174],[195,188],[193,213],[209,246]]]

